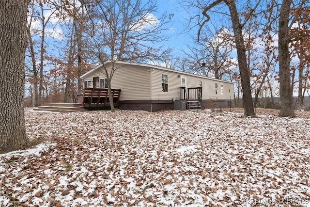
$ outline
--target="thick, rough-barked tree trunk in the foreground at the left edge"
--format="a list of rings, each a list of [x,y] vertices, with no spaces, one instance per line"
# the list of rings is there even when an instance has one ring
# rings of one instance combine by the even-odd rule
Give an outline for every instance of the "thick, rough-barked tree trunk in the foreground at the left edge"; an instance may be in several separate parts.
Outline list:
[[[23,109],[28,3],[0,3],[0,153],[28,145]]]

